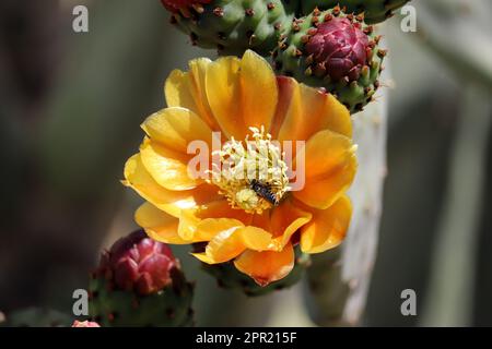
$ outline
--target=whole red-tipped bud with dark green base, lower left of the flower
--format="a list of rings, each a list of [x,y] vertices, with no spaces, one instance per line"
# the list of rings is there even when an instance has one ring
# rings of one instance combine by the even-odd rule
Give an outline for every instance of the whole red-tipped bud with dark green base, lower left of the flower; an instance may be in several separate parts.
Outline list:
[[[188,326],[192,286],[169,248],[142,230],[103,253],[90,281],[90,316],[106,326]]]

